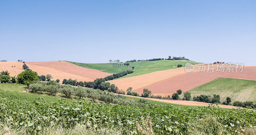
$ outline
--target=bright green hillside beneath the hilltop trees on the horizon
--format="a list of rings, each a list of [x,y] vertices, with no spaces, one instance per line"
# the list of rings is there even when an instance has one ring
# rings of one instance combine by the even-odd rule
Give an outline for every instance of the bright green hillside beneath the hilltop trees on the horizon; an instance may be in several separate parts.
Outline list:
[[[114,63],[87,64],[87,63],[76,63],[76,62],[70,62],[70,61],[66,61],[66,62],[76,64],[78,66],[80,65],[81,67],[96,69],[96,70],[99,70],[102,72],[108,72],[108,73],[119,73],[126,70],[132,70],[132,67],[133,66],[135,67],[133,70],[134,72],[132,74],[126,75],[121,78],[138,76],[138,75],[147,74],[155,71],[174,69],[174,68],[177,68],[178,64],[185,66],[187,62],[191,64],[199,64],[197,62],[181,61],[181,60],[138,61],[133,63],[129,62],[130,64],[129,66],[115,65]],[[118,64],[124,64],[124,63],[118,63]]]

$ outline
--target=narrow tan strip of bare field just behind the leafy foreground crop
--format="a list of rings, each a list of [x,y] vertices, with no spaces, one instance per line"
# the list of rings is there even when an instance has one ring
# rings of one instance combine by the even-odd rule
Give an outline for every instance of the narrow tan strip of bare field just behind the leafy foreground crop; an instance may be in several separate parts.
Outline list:
[[[131,95],[123,95],[123,96],[136,97],[136,96],[131,96]],[[143,98],[143,97],[136,97],[136,98]],[[210,103],[204,103],[204,102],[184,101],[184,100],[164,100],[164,99],[155,99],[155,98],[143,98],[143,99],[148,99],[148,100],[153,100],[153,101],[160,101],[160,102],[165,102],[165,103],[178,104],[178,105],[186,105],[186,106],[209,106],[209,104],[210,104]],[[229,108],[229,109],[239,108],[239,107],[230,106],[230,105],[218,105],[218,106],[221,107],[221,108]]]

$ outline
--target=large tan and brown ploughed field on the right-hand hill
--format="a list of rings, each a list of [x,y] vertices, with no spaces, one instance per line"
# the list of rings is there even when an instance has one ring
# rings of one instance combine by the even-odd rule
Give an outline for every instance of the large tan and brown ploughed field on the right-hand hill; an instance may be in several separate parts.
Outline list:
[[[195,67],[197,66],[195,65]],[[130,78],[111,80],[109,82],[115,84],[122,90],[132,87],[134,91],[142,93],[144,88],[148,88],[154,95],[166,96],[172,95],[178,89],[181,89],[183,92],[188,91],[218,77],[256,80],[256,67],[244,66],[243,72],[219,72],[216,71],[216,68],[214,68],[213,72],[197,72],[195,68],[194,71],[189,73],[185,71],[185,68],[176,68]]]

